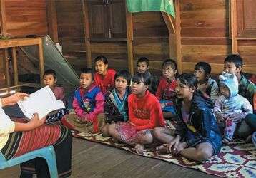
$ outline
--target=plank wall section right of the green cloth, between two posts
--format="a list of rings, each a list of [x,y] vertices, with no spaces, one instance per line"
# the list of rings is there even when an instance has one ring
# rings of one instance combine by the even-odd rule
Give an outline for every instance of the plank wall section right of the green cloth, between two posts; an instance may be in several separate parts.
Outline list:
[[[228,1],[181,0],[182,69],[199,61],[222,64],[231,53]],[[213,68],[219,73],[222,68]]]

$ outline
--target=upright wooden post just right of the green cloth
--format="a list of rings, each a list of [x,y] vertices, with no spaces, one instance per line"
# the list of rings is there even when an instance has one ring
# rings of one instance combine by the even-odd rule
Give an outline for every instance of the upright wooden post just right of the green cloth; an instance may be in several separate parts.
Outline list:
[[[175,0],[175,26],[176,26],[176,56],[177,56],[177,67],[179,73],[182,73],[182,41],[181,41],[181,27],[180,27],[180,4],[179,0]]]

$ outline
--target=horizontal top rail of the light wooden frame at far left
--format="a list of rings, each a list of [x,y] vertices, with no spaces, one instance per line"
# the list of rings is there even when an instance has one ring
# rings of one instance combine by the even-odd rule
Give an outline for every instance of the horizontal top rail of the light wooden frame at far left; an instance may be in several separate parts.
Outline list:
[[[20,39],[1,40],[0,48],[38,45],[39,43],[41,43],[41,38],[20,38]]]

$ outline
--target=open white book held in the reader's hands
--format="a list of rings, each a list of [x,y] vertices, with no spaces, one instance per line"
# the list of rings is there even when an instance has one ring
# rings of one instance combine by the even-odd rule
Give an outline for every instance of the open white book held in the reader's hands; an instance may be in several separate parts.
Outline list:
[[[34,116],[33,113],[38,113],[39,119],[41,119],[49,114],[49,112],[65,108],[65,105],[61,100],[56,100],[56,97],[49,86],[37,90],[25,100],[18,101],[18,105],[24,115],[29,119]]]

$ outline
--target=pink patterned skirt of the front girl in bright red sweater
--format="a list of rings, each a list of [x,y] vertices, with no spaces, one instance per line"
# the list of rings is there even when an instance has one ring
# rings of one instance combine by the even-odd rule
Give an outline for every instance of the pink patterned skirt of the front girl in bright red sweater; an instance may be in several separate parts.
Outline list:
[[[141,142],[142,137],[150,133],[150,130],[136,130],[129,122],[117,122],[116,130],[122,142],[129,145],[136,145]]]

